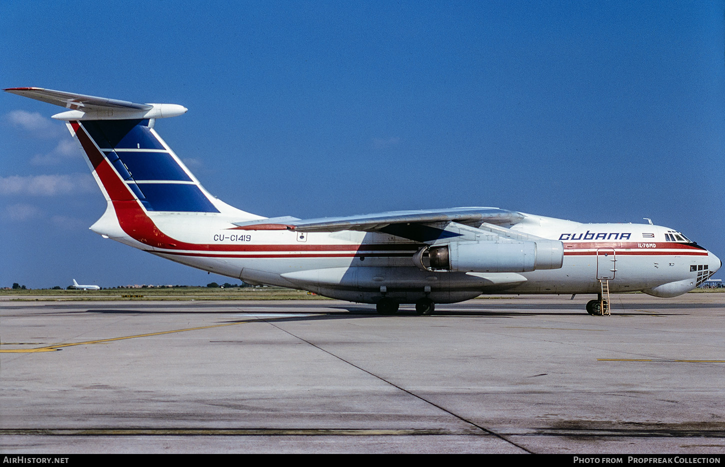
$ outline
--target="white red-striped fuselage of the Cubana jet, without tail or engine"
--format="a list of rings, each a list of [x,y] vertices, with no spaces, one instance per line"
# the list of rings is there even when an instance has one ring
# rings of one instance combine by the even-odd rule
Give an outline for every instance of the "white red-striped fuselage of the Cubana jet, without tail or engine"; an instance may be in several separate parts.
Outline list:
[[[439,303],[486,293],[595,294],[600,279],[609,280],[611,292],[671,297],[694,289],[709,275],[703,271],[721,264],[690,242],[667,241],[671,229],[648,224],[583,224],[525,215],[511,230],[562,241],[561,268],[461,273],[416,267],[413,254],[422,244],[380,232],[236,230],[221,218],[205,215],[193,223],[185,216],[181,228],[179,216],[149,217],[160,231],[195,247],[149,248],[133,239],[125,243],[249,284],[306,289],[355,302],[376,302],[381,290],[399,302],[414,302],[429,291]]]

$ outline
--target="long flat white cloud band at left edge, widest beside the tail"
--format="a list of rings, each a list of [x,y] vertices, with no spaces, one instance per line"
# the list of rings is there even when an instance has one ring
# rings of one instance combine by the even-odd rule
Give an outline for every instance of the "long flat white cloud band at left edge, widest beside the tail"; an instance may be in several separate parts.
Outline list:
[[[0,194],[7,195],[46,197],[59,194],[89,193],[95,190],[94,178],[88,173],[0,177]]]

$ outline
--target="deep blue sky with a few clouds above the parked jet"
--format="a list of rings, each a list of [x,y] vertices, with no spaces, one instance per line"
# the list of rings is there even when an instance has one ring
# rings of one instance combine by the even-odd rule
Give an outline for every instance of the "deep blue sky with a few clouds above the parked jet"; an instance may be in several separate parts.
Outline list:
[[[721,2],[451,3],[10,0],[0,84],[188,107],[157,131],[255,214],[646,217],[725,257]],[[57,111],[0,94],[0,286],[229,280],[89,231]]]

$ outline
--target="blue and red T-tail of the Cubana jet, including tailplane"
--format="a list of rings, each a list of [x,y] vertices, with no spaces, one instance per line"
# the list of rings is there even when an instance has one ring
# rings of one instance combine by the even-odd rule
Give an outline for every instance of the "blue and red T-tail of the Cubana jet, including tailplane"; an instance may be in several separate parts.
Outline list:
[[[163,213],[175,215],[178,221],[173,223],[174,228],[191,221],[179,215],[212,215],[230,222],[262,218],[213,197],[154,131],[157,118],[182,115],[186,107],[138,104],[43,88],[5,91],[71,109],[53,117],[66,120],[108,202],[104,215],[91,226],[98,234],[119,241],[130,237],[158,247],[178,244],[157,227],[155,219],[163,217]],[[133,241],[130,244],[141,247]]]

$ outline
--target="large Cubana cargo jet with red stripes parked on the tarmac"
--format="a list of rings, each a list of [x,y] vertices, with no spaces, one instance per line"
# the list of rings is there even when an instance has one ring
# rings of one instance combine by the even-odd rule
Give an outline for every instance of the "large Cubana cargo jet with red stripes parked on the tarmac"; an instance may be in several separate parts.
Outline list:
[[[107,209],[91,230],[177,263],[248,284],[305,289],[397,313],[480,294],[675,297],[721,267],[672,228],[578,223],[495,207],[265,218],[209,194],[154,129],[178,104],[136,104],[43,88],[9,88],[67,108]]]

